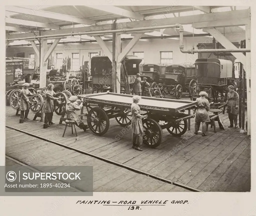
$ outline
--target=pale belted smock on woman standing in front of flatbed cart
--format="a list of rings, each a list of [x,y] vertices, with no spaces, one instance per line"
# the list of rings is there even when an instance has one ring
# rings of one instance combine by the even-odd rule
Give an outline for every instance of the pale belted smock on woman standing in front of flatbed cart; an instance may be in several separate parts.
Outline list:
[[[131,112],[132,112],[132,133],[133,134],[142,134],[143,133],[143,125],[142,119],[139,117],[141,112],[140,107],[136,103],[132,103],[131,105]]]

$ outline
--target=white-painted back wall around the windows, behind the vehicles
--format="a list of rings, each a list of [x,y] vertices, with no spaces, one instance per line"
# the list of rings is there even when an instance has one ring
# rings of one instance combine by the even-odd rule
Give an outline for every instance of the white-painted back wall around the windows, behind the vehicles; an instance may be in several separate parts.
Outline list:
[[[245,35],[225,35],[231,42],[240,42],[245,39]],[[197,54],[185,54],[179,50],[179,40],[173,39],[153,39],[152,42],[139,41],[133,49],[130,51],[130,55],[133,52],[144,52],[144,63],[148,64],[159,64],[160,63],[160,52],[161,51],[172,51],[173,52],[173,63],[194,63],[197,59]],[[209,37],[190,37],[184,38],[184,49],[191,49],[194,47],[197,49],[198,43],[209,44],[212,41]],[[122,49],[126,46],[129,41],[122,41]],[[10,44],[11,45],[11,44]],[[112,50],[112,42],[106,42],[106,45]],[[29,54],[34,53],[32,47],[8,47],[6,50],[6,56],[16,56],[17,52],[25,52],[25,57],[29,57]],[[96,43],[82,43],[82,44],[60,44],[58,45],[52,56],[56,58],[57,53],[63,53],[63,58],[70,57],[72,58],[72,53],[80,53],[80,66],[83,61],[89,61],[90,52],[100,52],[101,55],[104,55],[101,47]],[[36,67],[39,66],[39,57],[36,56]]]

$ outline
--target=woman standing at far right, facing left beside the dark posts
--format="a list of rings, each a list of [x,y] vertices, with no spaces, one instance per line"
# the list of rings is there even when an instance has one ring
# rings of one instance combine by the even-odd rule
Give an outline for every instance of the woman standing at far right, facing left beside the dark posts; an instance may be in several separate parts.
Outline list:
[[[236,91],[234,91],[234,86],[228,87],[228,95],[227,95],[227,106],[228,106],[228,118],[230,121],[230,125],[228,127],[237,128],[237,115],[239,113],[239,95]]]

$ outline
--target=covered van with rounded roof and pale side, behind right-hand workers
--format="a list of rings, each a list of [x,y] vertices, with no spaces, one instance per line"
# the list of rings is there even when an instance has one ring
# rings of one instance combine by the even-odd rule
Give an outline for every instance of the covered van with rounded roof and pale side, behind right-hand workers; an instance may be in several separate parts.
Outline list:
[[[189,96],[191,100],[199,98],[200,91],[206,91],[209,102],[225,102],[227,100],[227,87],[236,82],[233,78],[233,64],[229,60],[217,58],[198,58],[195,61],[197,83],[191,84]]]

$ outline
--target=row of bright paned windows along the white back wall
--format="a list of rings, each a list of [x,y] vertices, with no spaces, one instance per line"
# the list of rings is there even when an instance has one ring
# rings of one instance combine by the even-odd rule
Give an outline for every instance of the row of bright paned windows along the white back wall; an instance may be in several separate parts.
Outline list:
[[[90,53],[90,60],[93,56],[98,55],[98,53]],[[144,52],[133,52],[133,55],[142,59],[141,64],[144,64]],[[29,58],[35,58],[35,54],[29,54]],[[76,71],[80,69],[80,58],[79,53],[72,53],[72,63],[71,70]],[[173,63],[173,52],[160,52],[160,63],[161,64],[172,64]],[[56,54],[56,69],[60,69],[63,65],[63,54]]]

